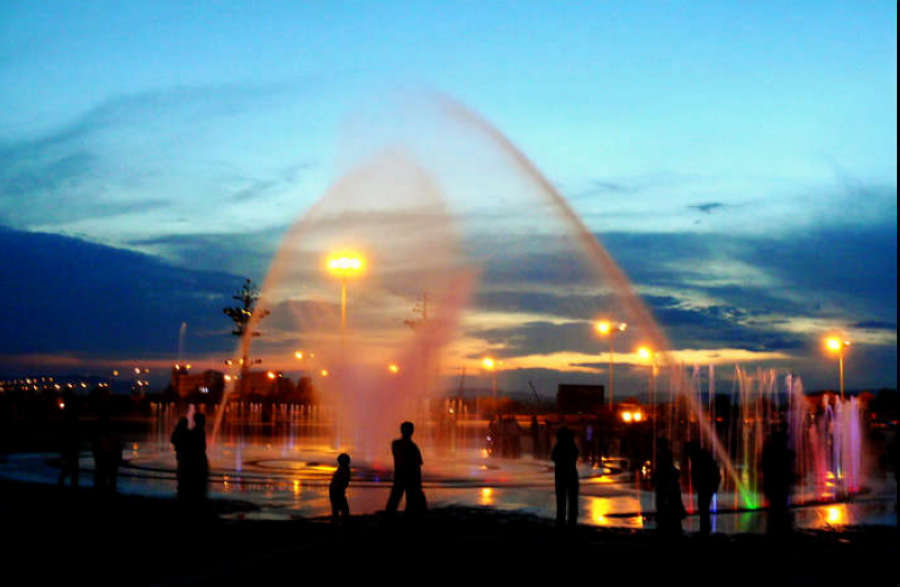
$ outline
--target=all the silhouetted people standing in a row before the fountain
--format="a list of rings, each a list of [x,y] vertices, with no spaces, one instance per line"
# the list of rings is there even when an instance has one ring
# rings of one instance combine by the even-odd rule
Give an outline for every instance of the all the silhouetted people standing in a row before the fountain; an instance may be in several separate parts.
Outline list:
[[[502,429],[503,419],[498,418],[497,430]],[[549,424],[549,423],[548,423]],[[193,404],[189,405],[186,416],[178,421],[172,433],[172,445],[177,460],[178,499],[184,504],[196,505],[205,501],[209,475],[206,456],[205,416],[197,413]],[[517,427],[518,428],[518,427]],[[549,429],[549,425],[545,430]],[[427,509],[425,493],[422,489],[422,453],[412,440],[415,428],[412,422],[400,425],[400,438],[391,443],[394,457],[394,476],[390,496],[385,510],[388,514],[397,511],[400,500],[406,497],[405,512],[421,515]],[[593,442],[598,430],[588,429],[581,438],[593,455],[598,455]],[[533,439],[535,456],[540,447],[546,445],[541,439],[541,428],[537,418],[532,418],[530,434]],[[62,429],[62,470],[59,482],[67,477],[78,483],[78,442],[77,408],[74,405],[66,412]],[[690,481],[697,495],[700,515],[700,533],[708,535],[711,530],[711,504],[721,483],[719,464],[712,453],[699,442],[688,442],[685,455],[690,466]],[[108,415],[101,413],[97,433],[94,438],[94,457],[97,463],[95,485],[103,489],[115,489],[116,471],[120,462],[121,440],[112,432]],[[565,425],[556,430],[556,444],[550,453],[554,463],[554,487],[556,491],[556,522],[558,525],[574,526],[578,522],[579,478],[577,462],[579,448],[575,433]],[[592,456],[599,458],[599,456]],[[328,487],[331,513],[334,520],[346,519],[350,515],[347,488],[350,484],[350,455],[341,453],[337,457],[337,468]],[[774,431],[766,440],[761,458],[763,492],[769,506],[768,529],[771,532],[785,532],[791,528],[788,502],[794,475],[794,456],[788,447],[787,435],[782,429]],[[682,532],[682,521],[687,515],[681,495],[680,472],[667,438],[656,441],[656,460],[653,463],[653,486],[656,501],[657,529],[661,535],[674,536]]]

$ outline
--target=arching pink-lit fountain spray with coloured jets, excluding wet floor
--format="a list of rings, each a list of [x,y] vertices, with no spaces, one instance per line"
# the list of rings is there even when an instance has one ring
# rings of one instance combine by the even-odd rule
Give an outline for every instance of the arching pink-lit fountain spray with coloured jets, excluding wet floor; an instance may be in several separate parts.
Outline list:
[[[477,372],[482,354],[521,355],[521,349],[506,346],[527,334],[499,311],[505,308],[490,304],[504,296],[521,300],[536,290],[568,303],[572,323],[614,316],[630,325],[623,333],[626,348],[645,342],[658,349],[654,370],[661,376],[653,388],[662,395],[655,399],[668,403],[654,425],[676,448],[696,436],[714,452],[726,473],[725,487],[733,491],[732,507],[762,505],[763,441],[786,419],[801,467],[800,500],[807,499],[808,486],[825,495],[828,475],[844,493],[859,489],[856,400],[826,407],[825,433],[810,424],[816,416],[799,378],[788,377],[782,393],[774,370],[751,374],[737,368],[737,412],[725,419],[729,425],[721,433],[713,368],[704,402],[699,368],[688,377],[667,352],[665,336],[624,272],[536,167],[499,131],[452,100],[432,97],[404,103],[401,110],[361,117],[375,121],[375,128],[351,133],[346,171],[290,227],[272,261],[260,300],[271,336],[245,337],[238,353],[247,356],[252,344],[258,355],[279,348],[285,354],[285,341],[315,350],[317,369],[328,374],[316,384],[333,418],[334,451],[349,451],[355,464],[373,470],[386,468],[397,425],[429,421],[429,404],[441,400],[441,380],[451,368]],[[342,270],[328,271],[329,264]],[[423,296],[431,312],[423,307],[421,320],[405,319]],[[566,326],[540,322],[539,309],[524,310],[520,319],[526,326]],[[496,342],[473,346],[473,335],[484,339],[486,332]],[[553,353],[547,358],[546,349],[535,352],[551,363],[565,361]],[[230,393],[233,387],[223,401]],[[433,422],[419,427],[419,441],[429,448],[435,428]]]

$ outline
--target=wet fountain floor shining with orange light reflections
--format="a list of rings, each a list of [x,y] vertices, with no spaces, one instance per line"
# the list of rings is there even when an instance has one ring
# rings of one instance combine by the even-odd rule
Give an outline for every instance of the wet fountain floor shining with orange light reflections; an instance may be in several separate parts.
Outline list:
[[[324,516],[330,512],[328,481],[337,451],[315,438],[290,443],[225,440],[210,448],[210,495],[249,501],[260,509],[252,518],[287,519]],[[0,477],[55,483],[56,455],[9,455],[0,463]],[[119,491],[149,496],[175,493],[175,457],[167,440],[151,438],[126,446]],[[425,491],[433,506],[483,506],[498,510],[554,515],[553,470],[548,461],[531,457],[496,459],[475,448],[425,455]],[[84,478],[90,483],[93,459],[81,458]],[[616,459],[603,467],[582,466],[580,520],[595,526],[652,528],[653,493],[642,490],[633,474]],[[383,509],[390,489],[389,469],[384,465],[354,463],[348,490],[351,511],[373,513]],[[685,505],[693,509],[690,495]],[[729,494],[719,498],[713,517],[716,532],[764,532],[765,514],[740,511]],[[896,484],[860,496],[850,502],[794,508],[797,527],[836,528],[852,524],[896,525]],[[689,515],[685,530],[695,531],[699,519]]]

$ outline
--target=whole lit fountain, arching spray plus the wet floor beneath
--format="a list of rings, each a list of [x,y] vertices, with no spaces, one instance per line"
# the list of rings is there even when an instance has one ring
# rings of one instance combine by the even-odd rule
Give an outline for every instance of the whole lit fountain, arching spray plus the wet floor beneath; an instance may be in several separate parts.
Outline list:
[[[339,179],[290,225],[262,283],[259,311],[215,410],[213,493],[322,513],[334,458],[349,452],[351,509],[380,509],[390,440],[400,422],[412,420],[432,502],[546,513],[552,504],[547,461],[489,458],[485,433],[496,402],[472,406],[461,395],[448,397],[448,382],[467,373],[496,389],[502,368],[605,380],[606,362],[598,360],[586,327],[599,317],[628,324],[617,334],[616,362],[636,368],[630,379],[617,368],[616,399],[655,400],[649,424],[672,439],[676,453],[692,439],[714,452],[725,471],[719,511],[763,505],[760,452],[778,425],[789,427],[797,455],[796,502],[861,489],[857,399],[817,402],[804,395],[799,377],[737,368],[723,411],[715,369],[708,368],[704,381],[704,369],[689,372],[676,360],[604,246],[487,122],[443,97],[367,112],[360,120],[363,130],[352,128],[342,149]],[[251,337],[257,330],[264,336]],[[628,350],[641,344],[656,349],[643,365]],[[278,371],[311,377],[316,404],[244,401],[235,381],[251,350],[265,358],[273,377]],[[485,370],[485,355],[496,359],[496,369],[492,363]],[[126,455],[134,484],[124,486],[135,491],[172,483],[168,434],[178,414],[171,406],[155,409],[151,442],[133,443]],[[641,484],[642,465],[611,455],[582,466],[590,521],[643,524],[653,500]],[[690,493],[687,484],[685,490]]]

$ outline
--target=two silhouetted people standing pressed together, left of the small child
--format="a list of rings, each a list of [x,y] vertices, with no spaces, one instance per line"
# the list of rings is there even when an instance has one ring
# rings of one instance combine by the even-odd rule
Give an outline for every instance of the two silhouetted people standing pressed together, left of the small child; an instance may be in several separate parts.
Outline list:
[[[202,505],[206,499],[209,461],[206,458],[206,416],[197,414],[194,405],[178,421],[172,433],[172,445],[178,465],[178,498],[184,504]]]

